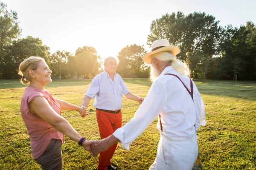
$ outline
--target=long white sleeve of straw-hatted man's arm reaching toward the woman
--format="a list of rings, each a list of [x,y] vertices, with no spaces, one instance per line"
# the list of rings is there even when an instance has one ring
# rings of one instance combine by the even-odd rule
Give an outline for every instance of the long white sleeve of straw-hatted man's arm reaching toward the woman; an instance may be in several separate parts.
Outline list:
[[[129,149],[131,142],[163,111],[166,100],[166,89],[162,83],[156,81],[130,122],[113,133],[121,141],[123,148]]]

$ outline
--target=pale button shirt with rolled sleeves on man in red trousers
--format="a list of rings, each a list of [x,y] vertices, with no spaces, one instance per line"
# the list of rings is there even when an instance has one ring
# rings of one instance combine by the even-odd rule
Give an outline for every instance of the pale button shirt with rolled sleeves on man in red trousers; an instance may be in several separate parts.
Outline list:
[[[93,78],[85,95],[94,99],[93,107],[105,110],[116,111],[122,108],[122,96],[129,91],[119,74],[114,74],[114,79],[104,70]]]

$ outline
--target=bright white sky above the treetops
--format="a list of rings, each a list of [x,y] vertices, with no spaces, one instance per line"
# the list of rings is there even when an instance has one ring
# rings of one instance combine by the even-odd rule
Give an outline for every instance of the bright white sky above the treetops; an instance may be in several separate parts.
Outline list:
[[[146,45],[153,20],[182,11],[206,12],[221,26],[256,23],[256,0],[0,0],[18,13],[22,38],[39,37],[50,52],[93,46],[104,58],[126,45]]]

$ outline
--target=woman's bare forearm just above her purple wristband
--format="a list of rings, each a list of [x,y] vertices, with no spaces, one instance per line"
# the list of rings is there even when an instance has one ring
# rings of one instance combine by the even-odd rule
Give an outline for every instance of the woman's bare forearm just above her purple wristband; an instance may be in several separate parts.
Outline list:
[[[79,133],[77,133],[77,131],[64,118],[54,123],[52,127],[63,133],[64,135],[68,136],[73,141],[79,142],[79,140],[81,139],[81,135],[79,135]]]

